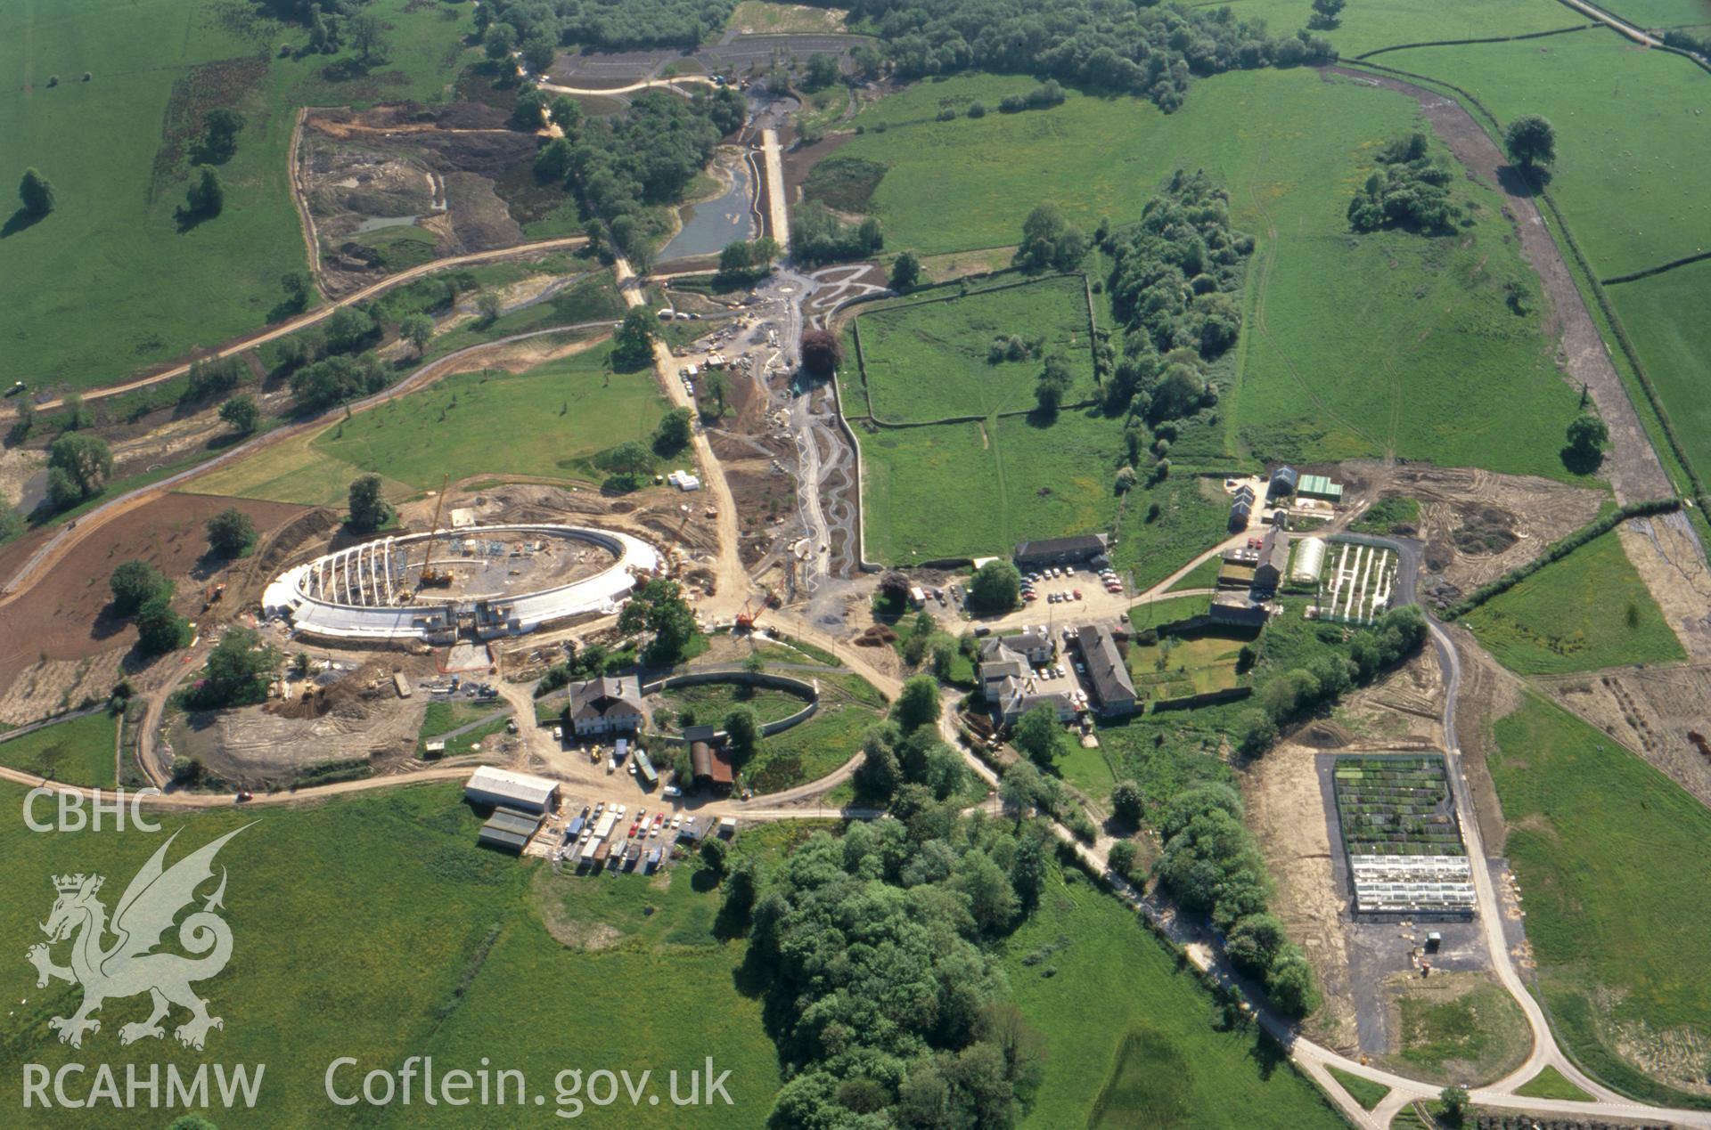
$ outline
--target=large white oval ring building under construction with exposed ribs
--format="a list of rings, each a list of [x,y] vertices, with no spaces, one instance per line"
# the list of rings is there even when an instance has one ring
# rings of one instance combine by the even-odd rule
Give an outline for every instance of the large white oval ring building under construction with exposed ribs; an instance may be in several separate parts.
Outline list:
[[[508,591],[498,583],[493,591],[441,593],[421,585],[428,533],[383,537],[286,569],[262,595],[262,614],[286,615],[299,633],[337,639],[443,643],[465,627],[477,638],[515,636],[571,615],[613,612],[635,590],[636,576],[660,568],[659,550],[614,530],[529,523],[460,527],[431,537],[436,571],[448,573],[541,573],[539,562],[534,569],[505,566],[537,554],[549,557],[561,542],[582,542],[614,559],[599,573],[563,585]],[[424,549],[421,564],[412,561],[417,547]]]

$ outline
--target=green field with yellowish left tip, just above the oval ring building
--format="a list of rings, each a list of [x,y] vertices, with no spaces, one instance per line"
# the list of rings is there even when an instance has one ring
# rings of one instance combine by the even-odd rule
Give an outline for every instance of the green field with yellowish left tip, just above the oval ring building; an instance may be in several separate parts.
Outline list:
[[[609,359],[595,345],[524,373],[448,376],[205,475],[197,491],[335,506],[368,472],[394,499],[447,474],[599,480],[606,472],[590,460],[626,439],[645,443],[667,407],[650,371],[614,373]]]

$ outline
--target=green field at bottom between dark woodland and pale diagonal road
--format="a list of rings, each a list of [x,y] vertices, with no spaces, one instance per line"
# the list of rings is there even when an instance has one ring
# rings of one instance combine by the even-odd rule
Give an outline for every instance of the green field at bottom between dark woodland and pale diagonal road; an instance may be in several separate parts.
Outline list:
[[[1213,1002],[1134,911],[1054,868],[1004,944],[1011,998],[1045,1043],[1023,1127],[1340,1127],[1276,1045],[1220,1033]]]

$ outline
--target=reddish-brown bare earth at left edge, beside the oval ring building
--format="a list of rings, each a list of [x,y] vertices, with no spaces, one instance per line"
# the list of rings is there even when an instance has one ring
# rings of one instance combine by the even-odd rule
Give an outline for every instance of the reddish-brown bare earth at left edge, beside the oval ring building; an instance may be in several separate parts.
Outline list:
[[[101,537],[79,542],[27,595],[0,607],[0,721],[34,721],[84,697],[106,697],[121,668],[147,686],[152,668],[163,667],[130,656],[137,629],[111,612],[108,576],[123,561],[145,561],[173,580],[180,615],[207,621],[204,591],[222,581],[229,588],[214,615],[234,614],[255,561],[205,559],[204,527],[228,506],[255,523],[262,552],[274,532],[313,513],[281,503],[169,494],[115,518]],[[0,550],[0,576],[17,571],[36,544],[22,539]]]

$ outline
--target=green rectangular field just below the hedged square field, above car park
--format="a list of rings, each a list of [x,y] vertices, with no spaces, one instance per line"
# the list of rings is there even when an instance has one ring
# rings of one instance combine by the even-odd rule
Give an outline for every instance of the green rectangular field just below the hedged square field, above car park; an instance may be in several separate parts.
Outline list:
[[[1116,421],[1059,412],[859,433],[867,554],[888,564],[1003,554],[1110,527]]]

